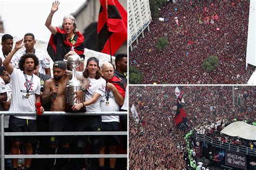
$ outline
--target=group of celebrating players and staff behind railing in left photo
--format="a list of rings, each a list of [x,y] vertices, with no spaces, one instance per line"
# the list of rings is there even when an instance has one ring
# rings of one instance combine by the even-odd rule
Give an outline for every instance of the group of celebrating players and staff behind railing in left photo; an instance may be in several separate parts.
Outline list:
[[[5,154],[125,154],[127,136],[124,136],[122,142],[115,135],[55,136],[51,133],[127,131],[126,116],[99,114],[102,111],[127,111],[127,55],[116,55],[116,67],[112,61],[99,63],[99,59],[94,56],[84,61],[84,37],[76,29],[76,19],[65,16],[62,27],[51,24],[59,4],[59,1],[52,3],[45,21],[45,26],[52,33],[47,47],[48,54],[35,48],[33,33],[26,33],[17,42],[8,33],[2,36],[0,110],[37,113],[4,116],[5,132],[49,132],[49,136],[6,137]],[[53,60],[52,66],[50,57]],[[72,60],[71,65],[75,63],[73,60],[83,61],[79,62],[79,67],[74,68],[79,82],[75,82],[77,80],[72,77],[75,74],[70,72],[67,59]],[[77,84],[71,89],[70,82]],[[98,114],[44,116],[44,111]],[[117,158],[25,158],[22,165],[19,160],[5,159],[5,169],[124,169],[126,166],[124,161],[117,162]]]

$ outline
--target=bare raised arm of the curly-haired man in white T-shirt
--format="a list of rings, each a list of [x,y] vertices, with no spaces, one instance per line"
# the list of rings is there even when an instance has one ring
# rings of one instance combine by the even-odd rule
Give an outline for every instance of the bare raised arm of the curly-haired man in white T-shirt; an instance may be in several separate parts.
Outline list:
[[[6,71],[11,75],[11,73],[13,72],[14,70],[14,67],[12,67],[10,61],[12,59],[12,56],[14,56],[14,54],[19,50],[19,48],[22,48],[24,46],[24,44],[22,43],[23,42],[23,39],[21,40],[18,40],[16,43],[15,43],[15,47],[14,49],[12,49],[12,51],[6,56],[5,60],[3,61],[3,65],[6,69]]]

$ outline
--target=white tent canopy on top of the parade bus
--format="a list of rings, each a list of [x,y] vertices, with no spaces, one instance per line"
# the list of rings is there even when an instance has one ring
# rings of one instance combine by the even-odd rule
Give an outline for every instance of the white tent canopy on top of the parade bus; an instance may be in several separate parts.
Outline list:
[[[231,123],[226,128],[221,130],[220,133],[242,139],[256,140],[256,126],[241,121]]]

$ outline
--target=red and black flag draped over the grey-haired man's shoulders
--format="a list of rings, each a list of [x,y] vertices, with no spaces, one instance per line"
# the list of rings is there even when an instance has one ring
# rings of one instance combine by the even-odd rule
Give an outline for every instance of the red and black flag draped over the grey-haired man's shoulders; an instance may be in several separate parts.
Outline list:
[[[72,39],[66,38],[66,33],[63,29],[56,27],[57,33],[51,34],[47,52],[54,61],[62,61],[64,55],[73,50],[82,58],[84,58],[84,36],[79,31],[75,33]]]

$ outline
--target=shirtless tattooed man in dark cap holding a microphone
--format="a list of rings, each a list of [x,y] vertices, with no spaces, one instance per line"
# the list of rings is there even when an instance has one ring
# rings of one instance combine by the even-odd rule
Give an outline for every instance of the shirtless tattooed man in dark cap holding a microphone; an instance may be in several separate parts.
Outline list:
[[[51,102],[50,111],[64,111],[65,110],[65,87],[66,83],[70,80],[66,75],[66,65],[63,61],[55,61],[53,63],[53,77],[46,80],[44,83],[44,90],[42,94],[42,104]],[[55,98],[53,98],[55,96]],[[49,118],[49,131],[61,132],[70,131],[69,121],[66,116],[56,115]],[[51,136],[49,154],[55,154],[55,150],[61,138],[62,146],[59,146],[59,154],[70,154],[69,143],[70,136]],[[50,161],[50,169],[52,169],[54,159]],[[60,162],[59,162],[60,161]],[[68,162],[65,159],[57,159],[58,165],[67,166]]]

